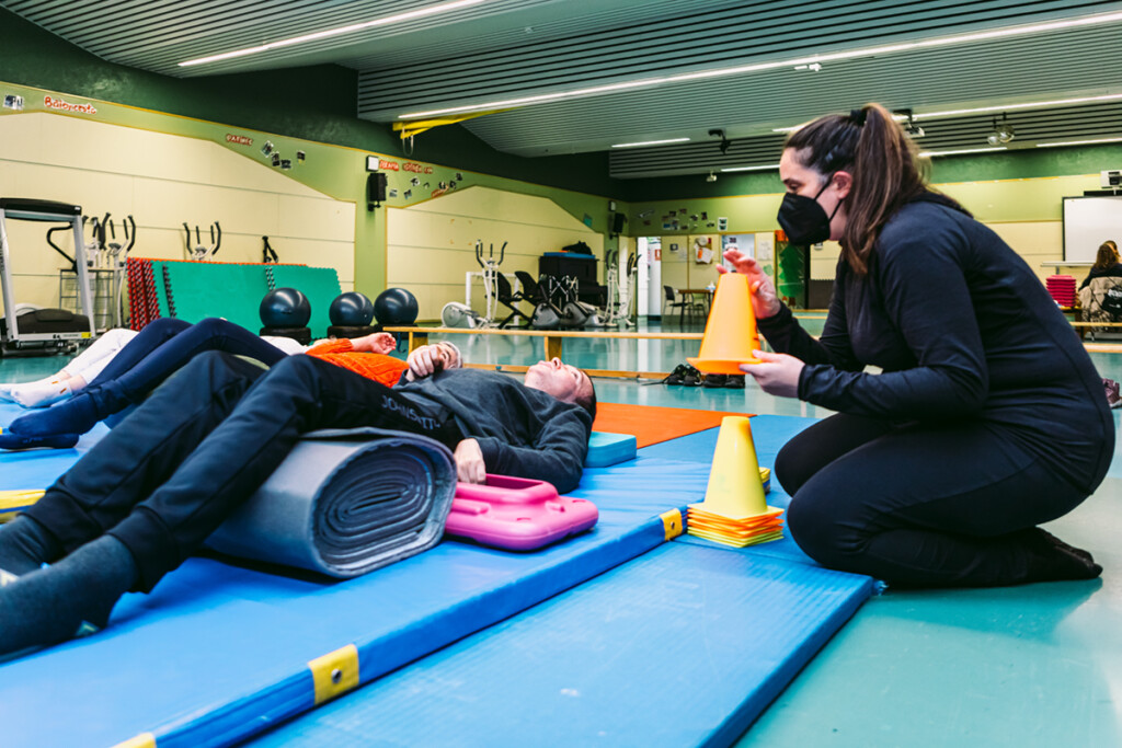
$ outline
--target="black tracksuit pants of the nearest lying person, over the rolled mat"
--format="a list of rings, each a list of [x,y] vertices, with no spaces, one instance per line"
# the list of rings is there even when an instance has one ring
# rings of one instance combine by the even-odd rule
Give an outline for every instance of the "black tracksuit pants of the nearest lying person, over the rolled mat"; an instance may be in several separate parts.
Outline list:
[[[316,428],[377,426],[462,438],[444,413],[307,355],[268,371],[208,352],[172,376],[52,486],[27,515],[65,553],[109,534],[147,592],[178,566]]]

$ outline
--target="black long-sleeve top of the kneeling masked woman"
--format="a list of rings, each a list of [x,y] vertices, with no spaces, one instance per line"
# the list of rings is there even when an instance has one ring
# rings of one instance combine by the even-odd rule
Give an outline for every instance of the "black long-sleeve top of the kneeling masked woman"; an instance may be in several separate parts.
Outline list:
[[[938,195],[889,221],[866,275],[839,261],[820,340],[785,306],[758,326],[807,362],[799,397],[815,405],[981,421],[1082,489],[1110,464],[1113,418],[1070,324],[1008,244]]]

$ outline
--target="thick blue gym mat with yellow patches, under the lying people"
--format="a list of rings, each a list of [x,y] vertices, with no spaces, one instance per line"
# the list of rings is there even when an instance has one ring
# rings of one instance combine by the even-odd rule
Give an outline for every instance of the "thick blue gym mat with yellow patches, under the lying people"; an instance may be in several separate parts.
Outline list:
[[[0,423],[18,412],[0,408]],[[765,465],[765,442],[809,423],[761,418],[753,423]],[[79,450],[0,454],[0,488],[46,487],[99,437],[83,437]],[[191,558],[151,594],[126,595],[107,631],[0,665],[3,745],[243,740],[311,709],[318,689],[321,696],[333,693],[310,668],[330,653],[353,645],[357,665],[329,659],[329,672],[338,663],[343,687],[353,685],[352,669],[355,681],[367,683],[662,545],[659,515],[703,495],[716,430],[675,443],[682,449],[671,454],[687,459],[647,447],[634,461],[586,470],[573,496],[597,504],[599,525],[536,553],[445,542],[347,582]],[[755,552],[706,544],[680,545],[697,553],[719,547],[733,564],[797,561],[822,571],[789,541]]]

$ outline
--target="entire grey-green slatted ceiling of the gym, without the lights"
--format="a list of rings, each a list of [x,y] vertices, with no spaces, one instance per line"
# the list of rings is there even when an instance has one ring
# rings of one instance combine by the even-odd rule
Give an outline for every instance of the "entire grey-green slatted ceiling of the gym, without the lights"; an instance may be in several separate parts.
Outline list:
[[[333,63],[359,72],[360,117],[550,95],[598,85],[1118,13],[1122,1],[482,0],[436,16],[194,67],[185,59],[362,24],[447,0],[0,0],[0,7],[107,61],[175,76]],[[1107,25],[825,62],[534,103],[465,124],[522,156],[611,150],[619,177],[705,173],[774,160],[790,126],[865,101],[946,109],[1122,94],[1122,19]],[[1024,114],[1024,117],[1022,117]],[[1011,147],[1122,137],[1118,104],[1010,114]],[[925,148],[981,145],[991,116],[923,121]],[[725,154],[710,129],[732,141]],[[423,138],[424,136],[419,136]],[[936,145],[929,145],[936,144]]]

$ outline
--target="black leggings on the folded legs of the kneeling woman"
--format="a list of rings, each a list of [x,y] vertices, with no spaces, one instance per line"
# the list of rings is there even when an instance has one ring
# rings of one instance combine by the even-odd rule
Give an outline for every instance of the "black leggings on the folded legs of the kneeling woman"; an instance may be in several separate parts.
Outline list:
[[[1086,498],[1040,462],[982,423],[839,414],[788,442],[775,477],[792,537],[825,566],[903,587],[999,587],[1030,581],[1017,530]]]

